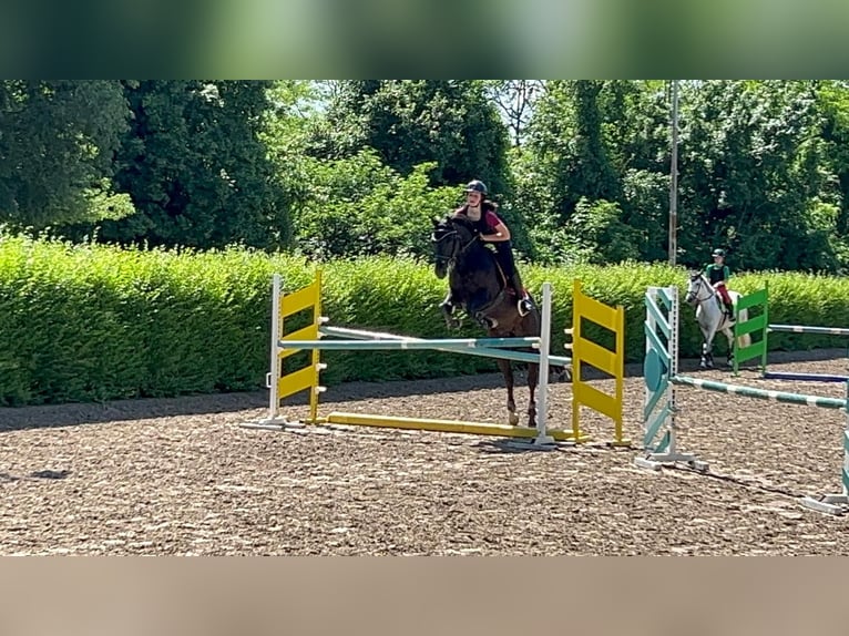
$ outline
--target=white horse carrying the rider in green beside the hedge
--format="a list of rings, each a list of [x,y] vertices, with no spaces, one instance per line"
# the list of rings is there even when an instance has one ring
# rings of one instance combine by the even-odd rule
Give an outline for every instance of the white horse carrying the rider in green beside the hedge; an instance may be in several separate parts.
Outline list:
[[[732,298],[732,302],[736,306],[740,295],[736,291],[728,290],[728,295]],[[698,328],[702,330],[704,341],[702,342],[702,362],[699,367],[703,369],[714,368],[714,337],[718,331],[725,334],[728,339],[728,366],[734,363],[734,318],[728,318],[725,315],[725,305],[719,294],[710,285],[710,281],[705,278],[705,275],[700,271],[689,273],[689,285],[687,285],[687,295],[684,297],[684,301],[696,308],[696,321]],[[743,309],[738,312],[738,318],[744,322],[748,319],[748,311]],[[739,347],[748,347],[751,345],[751,338],[748,334],[738,338],[737,345]]]

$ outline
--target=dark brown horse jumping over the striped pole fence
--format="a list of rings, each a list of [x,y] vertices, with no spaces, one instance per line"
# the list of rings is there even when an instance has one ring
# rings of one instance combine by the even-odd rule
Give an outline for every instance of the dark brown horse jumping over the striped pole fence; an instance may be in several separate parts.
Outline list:
[[[472,223],[462,217],[433,220],[433,256],[437,278],[448,276],[448,296],[440,305],[446,324],[460,326],[454,309],[461,307],[491,338],[521,338],[540,336],[540,312],[534,309],[521,316],[518,298],[507,286],[495,255],[481,240]],[[539,350],[525,349],[539,353]],[[513,398],[513,366],[510,360],[498,358],[498,366],[507,384],[507,409],[511,424],[519,422]],[[528,425],[536,425],[536,384],[540,365],[528,362]]]

